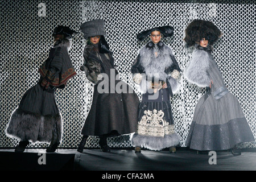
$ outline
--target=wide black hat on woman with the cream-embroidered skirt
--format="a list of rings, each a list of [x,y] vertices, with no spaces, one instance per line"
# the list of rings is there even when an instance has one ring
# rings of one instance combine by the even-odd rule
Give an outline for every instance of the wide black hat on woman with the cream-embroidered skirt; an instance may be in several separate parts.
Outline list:
[[[137,35],[137,39],[139,42],[144,40],[148,35],[151,34],[152,31],[159,31],[165,37],[171,37],[174,35],[174,27],[172,26],[163,26],[163,27],[155,27],[151,28],[150,30],[145,30]]]

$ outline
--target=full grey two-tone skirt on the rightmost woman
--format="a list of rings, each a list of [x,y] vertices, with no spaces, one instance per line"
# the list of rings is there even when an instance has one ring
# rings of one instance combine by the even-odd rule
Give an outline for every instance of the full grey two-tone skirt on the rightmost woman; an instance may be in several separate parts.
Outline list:
[[[195,107],[186,146],[193,150],[228,150],[254,141],[240,103],[230,92],[216,100],[207,92]]]

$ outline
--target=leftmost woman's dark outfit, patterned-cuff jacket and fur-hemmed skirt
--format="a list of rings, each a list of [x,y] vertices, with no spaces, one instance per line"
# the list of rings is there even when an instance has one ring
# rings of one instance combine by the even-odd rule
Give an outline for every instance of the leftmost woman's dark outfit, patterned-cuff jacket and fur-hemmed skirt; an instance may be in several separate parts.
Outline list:
[[[24,93],[6,129],[9,137],[35,142],[51,142],[54,133],[62,138],[62,118],[55,101],[55,90],[63,89],[76,75],[68,54],[68,39],[56,42],[39,69],[40,80]]]

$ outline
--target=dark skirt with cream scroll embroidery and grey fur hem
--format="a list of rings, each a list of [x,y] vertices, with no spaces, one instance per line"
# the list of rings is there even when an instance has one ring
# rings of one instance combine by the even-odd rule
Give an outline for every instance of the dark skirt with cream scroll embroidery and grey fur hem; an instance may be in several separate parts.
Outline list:
[[[179,145],[180,137],[175,133],[168,89],[160,89],[158,98],[154,100],[148,99],[151,95],[143,94],[139,104],[137,132],[131,137],[131,144],[150,150]]]

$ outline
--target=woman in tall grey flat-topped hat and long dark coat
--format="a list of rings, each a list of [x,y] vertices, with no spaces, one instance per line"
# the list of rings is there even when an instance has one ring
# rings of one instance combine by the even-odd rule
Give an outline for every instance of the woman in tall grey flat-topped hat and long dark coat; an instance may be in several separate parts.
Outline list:
[[[88,136],[100,137],[101,150],[109,152],[107,138],[134,133],[137,126],[139,98],[134,90],[119,80],[113,53],[105,40],[105,21],[95,19],[81,24],[87,44],[81,70],[94,84],[93,101],[82,127],[77,151],[82,152]],[[112,79],[114,78],[114,80]],[[121,90],[118,85],[122,85]]]

